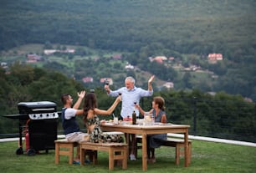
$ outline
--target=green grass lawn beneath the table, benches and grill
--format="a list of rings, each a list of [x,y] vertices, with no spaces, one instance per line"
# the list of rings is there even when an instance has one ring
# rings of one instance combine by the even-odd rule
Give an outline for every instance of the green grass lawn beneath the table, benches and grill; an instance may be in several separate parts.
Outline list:
[[[68,157],[60,156],[59,165],[54,163],[54,150],[49,154],[40,151],[39,155],[16,155],[18,142],[0,144],[0,168],[4,173],[28,172],[110,172],[108,170],[108,154],[100,151],[98,165],[69,165]],[[141,150],[136,161],[128,161],[128,169],[115,167],[112,172],[141,172]],[[192,141],[192,163],[184,167],[183,157],[180,165],[175,165],[175,150],[162,146],[156,149],[156,163],[149,164],[146,172],[256,172],[256,147],[228,145],[221,143]]]

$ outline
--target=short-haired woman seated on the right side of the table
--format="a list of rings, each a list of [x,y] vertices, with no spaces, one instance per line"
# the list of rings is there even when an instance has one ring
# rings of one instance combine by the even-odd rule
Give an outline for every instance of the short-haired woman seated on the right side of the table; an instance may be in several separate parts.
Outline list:
[[[153,114],[155,117],[155,122],[166,123],[166,112],[165,112],[165,100],[160,97],[154,97],[152,101],[152,109],[149,111],[150,114]],[[145,114],[145,111],[141,109],[139,104],[136,104],[136,109],[139,109],[141,114]],[[150,163],[156,162],[155,157],[155,148],[159,148],[162,144],[162,140],[167,139],[167,134],[156,134],[156,135],[147,135],[147,160]]]

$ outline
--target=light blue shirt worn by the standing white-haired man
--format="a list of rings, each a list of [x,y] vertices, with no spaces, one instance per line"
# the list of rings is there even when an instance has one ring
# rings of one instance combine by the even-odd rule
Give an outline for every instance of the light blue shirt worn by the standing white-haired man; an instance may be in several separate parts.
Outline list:
[[[117,97],[121,93],[121,99],[122,99],[122,109],[120,112],[120,115],[123,118],[126,118],[128,115],[131,117],[131,114],[133,110],[136,111],[136,116],[139,116],[139,110],[135,109],[134,102],[136,104],[140,103],[141,97],[150,97],[153,94],[153,90],[145,90],[141,88],[136,88],[136,86],[128,90],[126,87],[122,87],[117,90],[110,90],[110,93],[108,95],[112,97]]]

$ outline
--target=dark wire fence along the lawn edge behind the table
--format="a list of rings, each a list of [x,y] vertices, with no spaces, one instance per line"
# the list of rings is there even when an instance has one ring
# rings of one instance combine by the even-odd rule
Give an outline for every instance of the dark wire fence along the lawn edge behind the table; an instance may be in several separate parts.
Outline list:
[[[141,107],[151,109],[151,99],[141,99]],[[108,108],[101,108],[108,109]],[[120,113],[120,106],[115,115]],[[173,124],[190,125],[189,135],[240,140],[256,143],[256,106],[237,100],[197,98],[166,99],[167,120]],[[112,116],[100,116],[111,119]],[[83,121],[79,125],[85,131]],[[58,134],[63,130],[59,118]],[[18,122],[17,130],[18,132]],[[0,134],[0,138],[18,137],[18,133]]]

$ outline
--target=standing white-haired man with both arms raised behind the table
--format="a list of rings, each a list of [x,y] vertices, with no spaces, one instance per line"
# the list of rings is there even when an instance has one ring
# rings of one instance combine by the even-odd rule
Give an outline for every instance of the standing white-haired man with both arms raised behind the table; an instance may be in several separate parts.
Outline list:
[[[123,118],[123,120],[127,119],[128,116],[131,117],[132,112],[136,111],[136,116],[139,116],[139,110],[136,109],[135,104],[140,103],[141,97],[150,97],[153,94],[153,88],[152,88],[152,81],[155,78],[155,75],[152,75],[151,78],[148,80],[148,89],[141,89],[137,88],[135,86],[136,80],[132,78],[131,76],[125,78],[125,87],[122,87],[120,89],[111,90],[108,84],[105,84],[105,90],[107,91],[107,94],[112,97],[117,97],[119,94],[121,94],[122,99],[122,106],[121,106],[121,112],[120,115]],[[132,148],[131,148],[131,155],[130,160],[136,160],[136,157],[134,155],[134,141],[135,141],[135,135],[131,135],[132,138]]]

